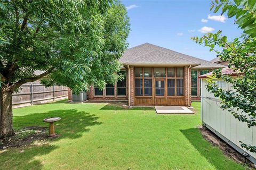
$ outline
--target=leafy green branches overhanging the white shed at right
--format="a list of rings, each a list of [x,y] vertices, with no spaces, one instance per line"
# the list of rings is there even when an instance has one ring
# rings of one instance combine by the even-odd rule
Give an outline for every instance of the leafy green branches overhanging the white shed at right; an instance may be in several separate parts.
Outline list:
[[[206,88],[221,99],[221,108],[227,109],[239,121],[250,128],[256,126],[256,4],[255,0],[216,0],[211,9],[228,18],[235,17],[235,24],[243,30],[243,35],[229,40],[217,33],[207,33],[201,38],[194,37],[196,43],[210,47],[210,51],[218,54],[221,60],[228,61],[236,77],[222,75],[221,70],[215,70],[207,79]],[[232,84],[234,90],[223,90],[217,86],[216,79],[223,79]],[[241,139],[243,140],[243,139]],[[256,147],[251,143],[241,141],[241,146],[251,152]]]

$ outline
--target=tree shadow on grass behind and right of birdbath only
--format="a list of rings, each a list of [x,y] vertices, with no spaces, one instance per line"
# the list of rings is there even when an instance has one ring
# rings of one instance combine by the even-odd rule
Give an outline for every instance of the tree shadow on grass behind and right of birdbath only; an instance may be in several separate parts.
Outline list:
[[[55,122],[56,133],[62,138],[79,138],[82,132],[90,129],[88,126],[98,125],[97,116],[87,112],[78,112],[77,109],[55,110],[46,113],[33,113],[26,116],[14,116],[13,125],[15,129],[25,128],[28,126],[49,126],[49,123],[43,122],[46,117],[61,117],[61,120]]]

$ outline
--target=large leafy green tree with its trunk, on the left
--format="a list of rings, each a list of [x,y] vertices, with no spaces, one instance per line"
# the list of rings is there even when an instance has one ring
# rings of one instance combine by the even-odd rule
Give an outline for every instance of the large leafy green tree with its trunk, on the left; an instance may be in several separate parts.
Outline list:
[[[119,78],[130,32],[119,1],[1,0],[0,16],[0,138],[14,134],[12,93],[21,84],[41,79],[78,92]]]

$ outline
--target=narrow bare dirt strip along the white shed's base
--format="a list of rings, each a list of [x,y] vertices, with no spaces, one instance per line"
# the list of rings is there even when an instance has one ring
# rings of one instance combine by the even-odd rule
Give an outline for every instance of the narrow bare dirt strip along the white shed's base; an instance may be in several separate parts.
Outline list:
[[[238,163],[247,164],[250,168],[255,169],[254,164],[251,163],[250,160],[244,158],[242,154],[237,152],[234,148],[230,147],[227,142],[223,141],[212,131],[210,131],[207,128],[204,128],[203,126],[199,126],[198,129],[202,133],[203,138],[211,142],[213,146],[219,147],[224,155],[235,160]]]

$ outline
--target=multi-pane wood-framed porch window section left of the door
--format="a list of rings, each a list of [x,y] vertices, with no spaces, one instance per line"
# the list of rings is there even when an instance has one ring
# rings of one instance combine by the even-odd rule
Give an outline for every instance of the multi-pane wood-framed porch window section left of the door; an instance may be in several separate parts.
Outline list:
[[[152,96],[152,68],[135,67],[135,96]]]

